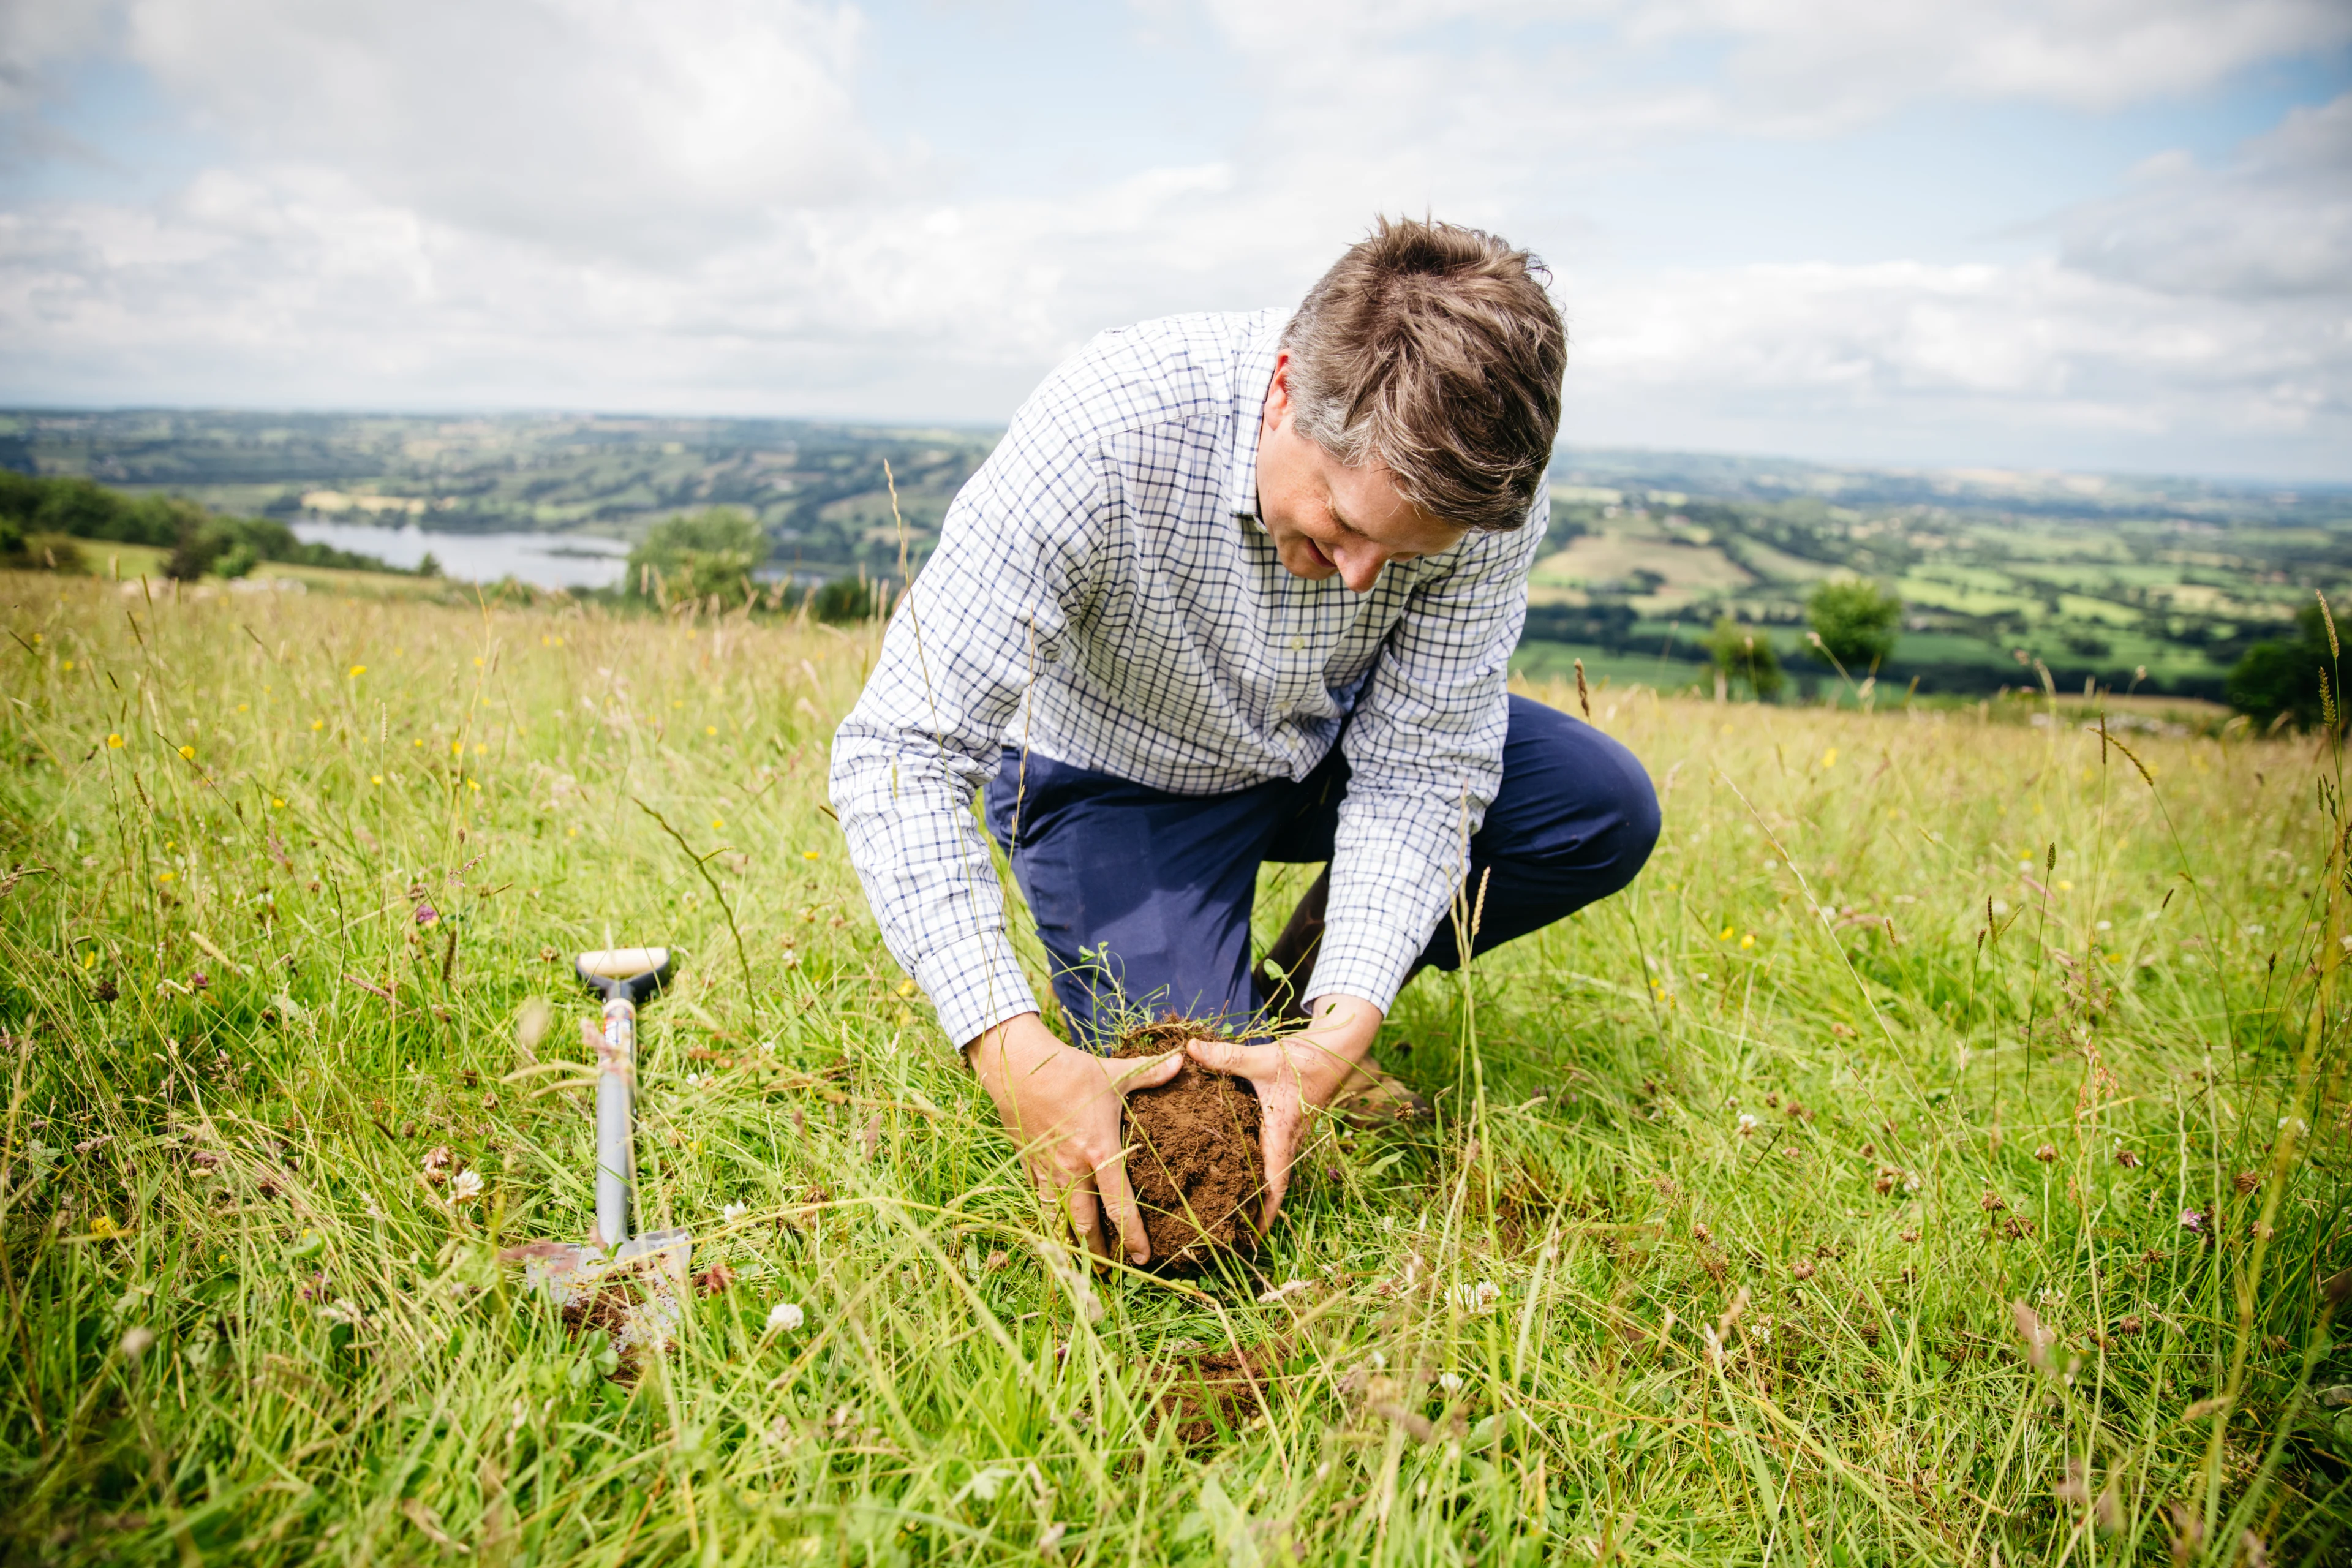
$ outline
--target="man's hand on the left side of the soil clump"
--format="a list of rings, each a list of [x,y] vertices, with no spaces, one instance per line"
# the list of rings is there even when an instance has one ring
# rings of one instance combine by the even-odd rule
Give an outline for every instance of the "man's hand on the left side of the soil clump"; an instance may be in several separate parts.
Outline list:
[[[1037,1013],[1021,1013],[964,1046],[964,1060],[981,1074],[1004,1131],[1021,1145],[1037,1194],[1049,1206],[1068,1208],[1070,1225],[1098,1258],[1110,1258],[1108,1215],[1127,1260],[1150,1262],[1152,1244],[1143,1234],[1120,1147],[1120,1098],[1167,1084],[1183,1067],[1181,1056],[1108,1060],[1073,1051]]]

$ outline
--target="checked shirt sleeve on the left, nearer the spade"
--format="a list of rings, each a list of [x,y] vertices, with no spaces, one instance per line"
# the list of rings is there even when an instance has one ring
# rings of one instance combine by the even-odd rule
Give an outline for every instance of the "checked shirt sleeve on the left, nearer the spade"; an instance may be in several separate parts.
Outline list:
[[[833,736],[833,809],[891,957],[957,1046],[1037,1011],[974,792],[1056,661],[1110,505],[1101,444],[1047,381],[957,491]]]

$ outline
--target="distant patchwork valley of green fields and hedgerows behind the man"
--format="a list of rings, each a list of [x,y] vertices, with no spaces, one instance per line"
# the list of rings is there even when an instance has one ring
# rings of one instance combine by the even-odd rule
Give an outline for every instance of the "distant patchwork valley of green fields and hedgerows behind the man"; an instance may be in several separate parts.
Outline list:
[[[642,538],[661,517],[731,505],[760,522],[771,567],[873,576],[898,574],[901,545],[924,559],[993,444],[993,430],[760,418],[0,411],[0,465],[233,512]],[[1531,665],[1559,663],[1536,644],[1698,663],[1708,628],[1736,616],[1818,696],[1835,675],[1806,651],[1804,595],[1858,574],[1907,607],[1886,684],[2037,689],[2039,658],[2070,691],[2093,679],[2213,701],[2314,590],[2352,597],[2345,489],[1578,449],[1552,480]]]

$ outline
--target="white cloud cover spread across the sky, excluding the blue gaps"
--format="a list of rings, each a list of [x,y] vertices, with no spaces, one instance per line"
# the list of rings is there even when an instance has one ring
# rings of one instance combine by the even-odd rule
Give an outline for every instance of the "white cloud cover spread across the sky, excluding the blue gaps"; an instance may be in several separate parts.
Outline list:
[[[0,212],[0,400],[995,421],[1103,324],[1296,299],[1374,212],[1430,207],[1555,252],[1573,440],[2352,465],[2352,99],[2227,167],[2150,165],[2037,261],[1628,275],[1569,254],[1599,247],[1564,195],[1922,94],[2192,92],[2345,38],[2347,7],[1207,5],[1256,120],[978,200],[868,120],[887,40],[833,0],[16,0],[0,115],[120,35],[223,153],[162,202]]]

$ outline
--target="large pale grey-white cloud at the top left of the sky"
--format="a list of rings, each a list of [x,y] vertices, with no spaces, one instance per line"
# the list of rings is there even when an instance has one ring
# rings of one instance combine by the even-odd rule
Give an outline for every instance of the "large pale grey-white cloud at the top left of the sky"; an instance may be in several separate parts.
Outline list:
[[[579,256],[682,254],[903,179],[816,0],[134,0],[127,52],[259,162]]]

